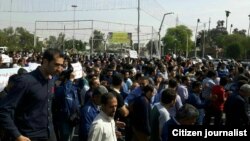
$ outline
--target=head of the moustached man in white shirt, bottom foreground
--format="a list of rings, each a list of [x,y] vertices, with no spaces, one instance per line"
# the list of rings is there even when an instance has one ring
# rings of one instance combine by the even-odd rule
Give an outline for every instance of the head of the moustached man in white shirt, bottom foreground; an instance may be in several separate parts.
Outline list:
[[[117,99],[112,93],[101,97],[102,111],[109,117],[114,117],[117,108]]]

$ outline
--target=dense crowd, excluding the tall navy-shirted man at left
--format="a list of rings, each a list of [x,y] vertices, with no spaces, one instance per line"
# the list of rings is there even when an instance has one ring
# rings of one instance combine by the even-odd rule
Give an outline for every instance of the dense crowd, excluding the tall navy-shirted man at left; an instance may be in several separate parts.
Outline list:
[[[0,58],[0,68],[22,68],[43,61],[39,53],[10,56],[13,62],[9,64],[1,63]],[[83,77],[78,79],[71,66],[76,62],[83,68]],[[58,141],[72,140],[78,130],[75,127],[79,127],[79,141],[166,141],[170,125],[249,125],[250,73],[236,61],[215,65],[208,60],[170,56],[66,55],[63,69],[53,77],[51,112]],[[19,70],[9,78],[0,102],[16,83],[15,77],[26,75],[25,70]],[[113,110],[108,104],[114,104]]]

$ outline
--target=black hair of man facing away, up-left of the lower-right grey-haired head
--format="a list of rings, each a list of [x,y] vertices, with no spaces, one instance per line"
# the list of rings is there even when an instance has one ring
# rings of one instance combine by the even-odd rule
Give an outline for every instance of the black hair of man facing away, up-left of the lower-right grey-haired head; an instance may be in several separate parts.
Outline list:
[[[164,104],[169,104],[176,99],[176,92],[173,89],[165,89],[161,94],[161,102]]]

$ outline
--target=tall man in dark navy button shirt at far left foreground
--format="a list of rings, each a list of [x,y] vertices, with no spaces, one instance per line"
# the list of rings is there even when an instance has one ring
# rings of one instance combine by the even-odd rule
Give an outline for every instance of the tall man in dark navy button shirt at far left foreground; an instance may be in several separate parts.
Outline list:
[[[0,103],[0,127],[16,141],[55,141],[51,118],[52,76],[63,71],[57,49],[43,54],[41,66],[17,78]]]

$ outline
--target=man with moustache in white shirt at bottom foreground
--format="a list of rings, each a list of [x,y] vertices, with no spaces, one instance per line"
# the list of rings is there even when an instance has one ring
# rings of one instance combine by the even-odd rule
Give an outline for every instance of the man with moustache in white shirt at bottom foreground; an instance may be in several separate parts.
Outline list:
[[[117,108],[117,99],[111,94],[101,98],[102,111],[92,122],[88,141],[117,141],[114,116]]]

